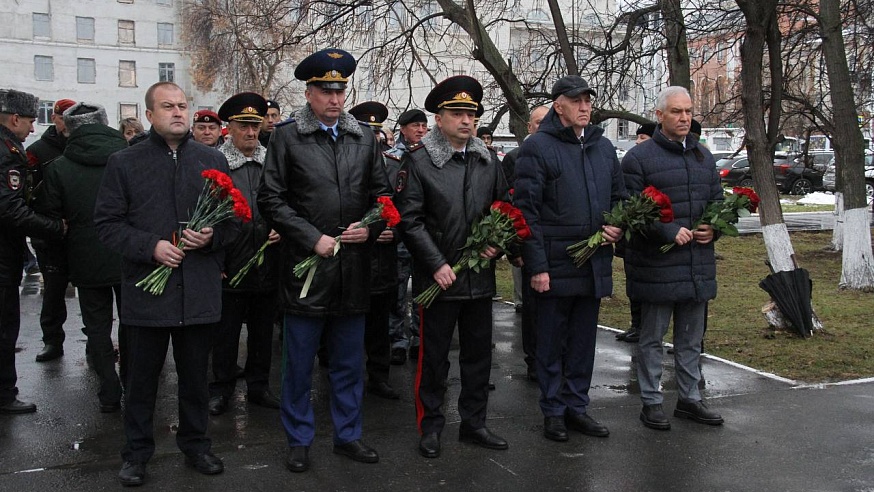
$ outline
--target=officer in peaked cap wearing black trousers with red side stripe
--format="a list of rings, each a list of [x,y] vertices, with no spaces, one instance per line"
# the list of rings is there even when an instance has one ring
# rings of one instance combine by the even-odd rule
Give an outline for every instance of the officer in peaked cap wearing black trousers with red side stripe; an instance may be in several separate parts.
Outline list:
[[[420,309],[421,340],[416,374],[416,416],[419,454],[440,456],[440,435],[446,424],[441,407],[449,373],[449,347],[458,325],[461,394],[459,440],[489,449],[507,449],[507,441],[486,427],[491,372],[492,297],[494,262],[475,272],[452,266],[472,226],[495,200],[506,200],[507,184],[500,166],[485,144],[474,136],[473,121],[481,107],[483,89],[467,76],[437,84],[425,100],[436,113],[436,127],[422,144],[403,157],[399,172],[398,210],[404,244],[413,256],[413,295],[436,282],[443,292],[427,309]],[[483,258],[500,251],[488,247]]]

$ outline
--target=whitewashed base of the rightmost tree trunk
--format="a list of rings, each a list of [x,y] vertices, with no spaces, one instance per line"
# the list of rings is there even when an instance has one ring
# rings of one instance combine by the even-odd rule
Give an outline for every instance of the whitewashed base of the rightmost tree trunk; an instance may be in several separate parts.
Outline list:
[[[838,287],[866,292],[874,290],[868,207],[844,212],[844,254]]]

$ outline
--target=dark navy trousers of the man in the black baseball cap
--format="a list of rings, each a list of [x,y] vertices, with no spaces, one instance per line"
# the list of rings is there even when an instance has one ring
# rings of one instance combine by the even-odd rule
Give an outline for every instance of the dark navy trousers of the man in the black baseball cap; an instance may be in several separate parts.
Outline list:
[[[600,299],[537,298],[537,378],[544,417],[586,413]]]

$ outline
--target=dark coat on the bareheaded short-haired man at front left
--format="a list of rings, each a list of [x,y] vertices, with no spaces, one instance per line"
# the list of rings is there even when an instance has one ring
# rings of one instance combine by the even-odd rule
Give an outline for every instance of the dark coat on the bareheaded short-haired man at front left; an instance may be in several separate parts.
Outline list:
[[[186,251],[161,295],[135,285],[157,266],[152,255],[158,241],[172,240],[194,211],[205,169],[229,172],[221,152],[190,135],[174,151],[157,132],[150,132],[147,140],[110,156],[94,224],[100,240],[122,255],[122,323],[173,327],[221,318],[224,248],[239,232],[237,219],[218,224],[206,247]]]

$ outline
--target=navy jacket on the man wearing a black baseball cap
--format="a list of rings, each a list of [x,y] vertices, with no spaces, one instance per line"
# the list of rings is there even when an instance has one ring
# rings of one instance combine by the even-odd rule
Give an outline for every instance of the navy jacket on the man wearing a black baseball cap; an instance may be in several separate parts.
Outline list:
[[[548,272],[545,296],[594,296],[613,293],[613,248],[600,248],[577,268],[567,247],[604,225],[604,212],[625,197],[622,169],[604,130],[590,125],[583,143],[573,127],[561,124],[550,109],[537,133],[528,137],[516,161],[514,203],[531,227],[522,243],[525,268]]]

